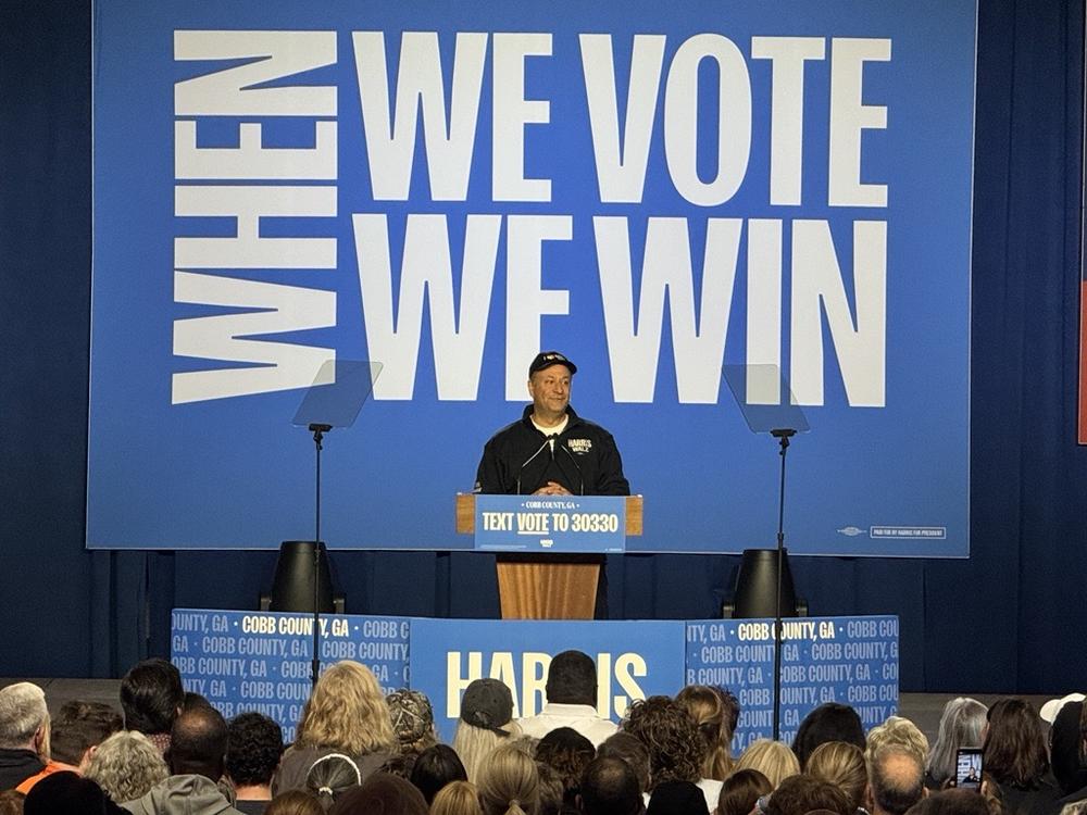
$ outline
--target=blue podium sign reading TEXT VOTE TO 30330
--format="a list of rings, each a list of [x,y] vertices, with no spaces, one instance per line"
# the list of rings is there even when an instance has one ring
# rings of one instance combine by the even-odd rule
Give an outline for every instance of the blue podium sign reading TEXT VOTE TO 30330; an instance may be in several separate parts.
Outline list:
[[[475,548],[489,552],[623,552],[625,496],[476,496]]]

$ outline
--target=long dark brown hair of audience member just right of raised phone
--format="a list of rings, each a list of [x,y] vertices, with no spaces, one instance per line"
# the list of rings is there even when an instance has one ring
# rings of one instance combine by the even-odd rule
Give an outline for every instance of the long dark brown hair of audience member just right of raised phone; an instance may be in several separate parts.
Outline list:
[[[1049,768],[1041,719],[1023,699],[1001,699],[989,709],[983,749],[985,772],[1000,785],[1034,787]]]

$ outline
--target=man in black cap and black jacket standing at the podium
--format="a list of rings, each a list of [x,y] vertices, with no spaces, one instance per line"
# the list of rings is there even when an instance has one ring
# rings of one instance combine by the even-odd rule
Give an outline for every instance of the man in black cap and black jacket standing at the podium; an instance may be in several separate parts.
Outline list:
[[[528,366],[533,403],[484,447],[475,491],[488,494],[629,496],[615,439],[570,406],[577,366],[544,351]]]

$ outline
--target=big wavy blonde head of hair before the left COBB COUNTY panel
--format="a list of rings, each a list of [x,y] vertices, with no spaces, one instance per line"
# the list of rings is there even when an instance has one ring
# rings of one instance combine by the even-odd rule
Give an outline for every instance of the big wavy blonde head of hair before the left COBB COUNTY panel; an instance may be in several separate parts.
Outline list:
[[[302,709],[295,744],[348,755],[395,750],[389,706],[370,668],[345,660],[321,675]]]

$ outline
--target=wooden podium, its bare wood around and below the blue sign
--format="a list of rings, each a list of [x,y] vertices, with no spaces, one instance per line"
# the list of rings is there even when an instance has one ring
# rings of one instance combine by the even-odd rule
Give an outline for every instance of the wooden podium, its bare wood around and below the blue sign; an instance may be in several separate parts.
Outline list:
[[[621,500],[626,535],[641,535],[641,496]],[[457,496],[457,531],[476,534],[473,493]],[[602,563],[602,554],[499,553],[498,597],[502,619],[592,619]]]

